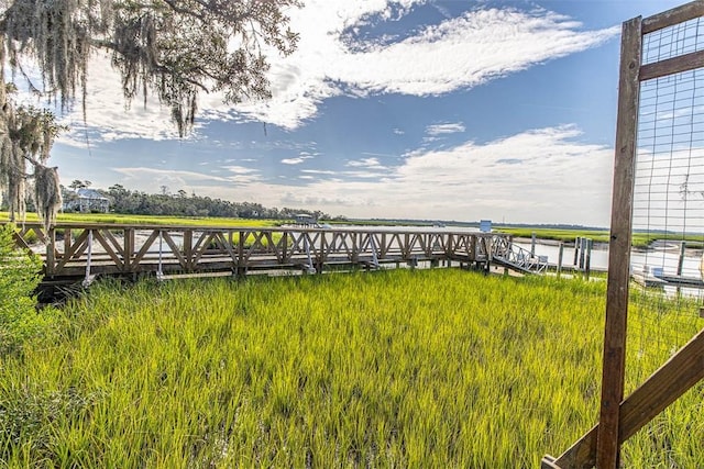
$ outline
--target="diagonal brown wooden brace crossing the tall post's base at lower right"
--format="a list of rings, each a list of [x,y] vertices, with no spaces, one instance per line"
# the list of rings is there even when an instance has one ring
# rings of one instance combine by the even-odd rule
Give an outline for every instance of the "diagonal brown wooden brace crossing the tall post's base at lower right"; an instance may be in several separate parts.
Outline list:
[[[624,443],[704,379],[704,330],[620,403],[619,442]],[[592,468],[596,464],[596,435],[590,429],[552,464],[560,468]],[[600,466],[601,468],[601,466]]]

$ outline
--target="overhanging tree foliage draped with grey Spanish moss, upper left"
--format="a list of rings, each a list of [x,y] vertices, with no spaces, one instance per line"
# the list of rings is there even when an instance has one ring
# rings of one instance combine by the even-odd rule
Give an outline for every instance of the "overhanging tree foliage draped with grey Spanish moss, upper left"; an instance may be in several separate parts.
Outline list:
[[[89,62],[96,51],[110,54],[128,103],[155,94],[170,108],[184,135],[193,125],[201,92],[221,92],[226,102],[268,98],[266,53],[289,54],[298,36],[288,29],[298,0],[0,0],[0,72],[24,77],[31,89],[70,107],[80,92],[85,111]],[[32,82],[23,57],[40,68]],[[55,168],[46,168],[62,127],[54,116],[18,108],[0,87],[0,192],[13,212],[23,212],[26,166],[35,168],[51,216],[58,192]],[[47,183],[48,186],[38,187]]]

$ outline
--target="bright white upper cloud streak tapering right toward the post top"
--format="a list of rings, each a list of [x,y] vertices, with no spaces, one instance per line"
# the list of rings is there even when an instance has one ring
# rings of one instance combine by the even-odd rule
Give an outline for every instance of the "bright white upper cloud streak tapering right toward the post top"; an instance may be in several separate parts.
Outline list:
[[[274,99],[239,110],[295,129],[329,97],[344,92],[430,96],[469,89],[597,46],[619,32],[618,27],[580,31],[580,23],[544,10],[486,9],[364,52],[351,51],[341,40],[345,27],[384,12],[384,1],[307,2],[292,15],[293,27],[301,32],[299,49],[273,66]]]

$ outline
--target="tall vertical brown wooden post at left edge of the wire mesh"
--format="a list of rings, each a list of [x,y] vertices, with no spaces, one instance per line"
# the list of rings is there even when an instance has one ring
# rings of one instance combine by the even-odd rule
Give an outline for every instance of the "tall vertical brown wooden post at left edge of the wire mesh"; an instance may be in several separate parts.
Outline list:
[[[596,466],[600,469],[616,469],[620,453],[618,425],[620,418],[619,404],[624,399],[626,362],[636,131],[640,92],[638,75],[642,47],[641,26],[641,18],[634,18],[623,24],[622,32],[614,193],[608,248],[606,321],[604,325],[602,404],[596,445]]]

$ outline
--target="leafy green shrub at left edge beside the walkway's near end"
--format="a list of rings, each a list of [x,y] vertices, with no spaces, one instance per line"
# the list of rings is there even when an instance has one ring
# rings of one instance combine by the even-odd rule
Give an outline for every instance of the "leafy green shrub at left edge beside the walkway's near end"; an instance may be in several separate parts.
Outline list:
[[[0,226],[0,356],[18,351],[41,334],[50,314],[36,311],[34,290],[41,281],[42,259],[15,247],[14,226]]]

